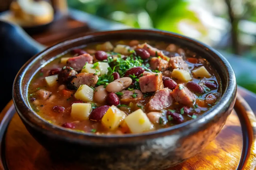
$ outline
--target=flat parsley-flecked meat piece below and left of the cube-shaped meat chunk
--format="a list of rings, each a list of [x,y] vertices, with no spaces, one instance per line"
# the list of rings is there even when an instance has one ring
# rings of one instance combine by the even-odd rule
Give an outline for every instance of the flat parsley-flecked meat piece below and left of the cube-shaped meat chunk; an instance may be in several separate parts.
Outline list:
[[[140,90],[123,90],[121,91],[123,95],[121,96],[121,104],[129,104],[130,102],[136,103],[143,100],[143,94]]]

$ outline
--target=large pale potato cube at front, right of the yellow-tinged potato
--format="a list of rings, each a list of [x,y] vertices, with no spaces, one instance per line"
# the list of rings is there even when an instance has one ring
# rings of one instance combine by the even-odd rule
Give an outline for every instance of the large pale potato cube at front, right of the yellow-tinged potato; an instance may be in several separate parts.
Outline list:
[[[141,109],[129,114],[127,117],[125,117],[124,121],[132,133],[141,133],[154,129],[154,126],[148,119],[146,113],[144,113]]]

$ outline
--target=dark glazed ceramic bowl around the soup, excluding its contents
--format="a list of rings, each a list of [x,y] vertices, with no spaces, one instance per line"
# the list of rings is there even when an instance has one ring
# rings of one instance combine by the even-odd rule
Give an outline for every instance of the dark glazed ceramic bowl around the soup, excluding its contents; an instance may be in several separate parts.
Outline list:
[[[95,135],[74,132],[48,123],[27,101],[31,77],[41,67],[70,48],[112,40],[155,40],[175,43],[203,56],[217,70],[222,86],[220,101],[197,119],[146,132]],[[164,169],[200,152],[225,124],[236,98],[236,79],[228,61],[211,47],[188,37],[154,30],[96,32],[47,48],[31,58],[18,72],[13,86],[16,110],[31,135],[45,148],[87,169]],[[56,158],[56,156],[53,156]]]

